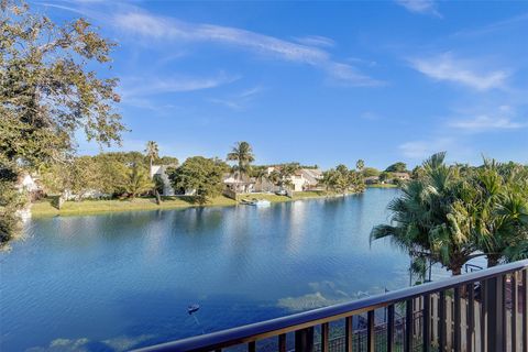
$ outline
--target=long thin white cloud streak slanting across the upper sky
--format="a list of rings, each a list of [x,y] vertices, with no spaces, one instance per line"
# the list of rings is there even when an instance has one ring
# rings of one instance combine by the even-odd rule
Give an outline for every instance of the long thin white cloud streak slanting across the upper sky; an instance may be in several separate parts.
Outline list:
[[[195,24],[143,11],[129,11],[114,15],[112,23],[129,34],[153,40],[176,42],[211,42],[237,46],[277,59],[318,67],[333,78],[353,86],[376,86],[381,81],[358,72],[351,65],[336,62],[319,46],[298,44],[242,29],[215,24]],[[316,38],[311,37],[314,42]],[[318,37],[319,45],[324,41]],[[328,44],[328,41],[327,41]]]

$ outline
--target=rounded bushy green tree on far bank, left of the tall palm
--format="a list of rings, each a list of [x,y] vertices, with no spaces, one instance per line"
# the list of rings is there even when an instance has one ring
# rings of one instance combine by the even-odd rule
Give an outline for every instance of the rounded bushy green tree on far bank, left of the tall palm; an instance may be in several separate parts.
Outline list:
[[[196,200],[204,205],[222,191],[226,164],[216,158],[194,156],[178,168],[167,169],[174,189],[193,190]]]

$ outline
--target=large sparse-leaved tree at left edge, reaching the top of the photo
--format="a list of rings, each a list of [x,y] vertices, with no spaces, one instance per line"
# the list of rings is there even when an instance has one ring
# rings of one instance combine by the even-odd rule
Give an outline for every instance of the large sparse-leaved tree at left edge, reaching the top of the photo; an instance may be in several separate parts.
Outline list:
[[[100,78],[113,43],[84,19],[57,25],[25,3],[0,2],[0,221],[21,201],[12,191],[21,168],[67,160],[75,133],[101,144],[124,130],[113,103],[117,79]],[[90,68],[89,68],[90,67]],[[10,234],[0,231],[0,242]]]

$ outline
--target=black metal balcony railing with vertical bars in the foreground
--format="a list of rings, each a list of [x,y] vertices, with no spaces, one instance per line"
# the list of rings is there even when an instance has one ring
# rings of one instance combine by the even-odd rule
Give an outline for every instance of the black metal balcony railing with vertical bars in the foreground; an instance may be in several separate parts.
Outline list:
[[[139,351],[528,351],[528,261]]]

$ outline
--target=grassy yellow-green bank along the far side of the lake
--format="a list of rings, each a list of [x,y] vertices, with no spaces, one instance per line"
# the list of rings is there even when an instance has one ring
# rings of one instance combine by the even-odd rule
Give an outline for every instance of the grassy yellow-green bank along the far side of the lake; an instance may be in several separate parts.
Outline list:
[[[346,195],[337,195],[323,191],[307,191],[294,194],[293,198],[286,196],[277,196],[274,194],[249,194],[240,195],[237,200],[226,196],[213,198],[210,202],[199,205],[193,201],[191,197],[164,197],[161,205],[156,205],[155,198],[135,198],[134,200],[81,200],[81,201],[66,201],[61,210],[52,206],[52,199],[46,198],[32,204],[32,218],[50,218],[61,216],[90,216],[102,215],[111,212],[128,212],[128,211],[148,211],[148,210],[172,210],[172,209],[188,209],[188,208],[210,208],[210,207],[234,207],[240,205],[242,199],[265,199],[272,204],[288,202],[297,200],[312,200],[324,198],[338,198],[356,195],[351,193]]]

